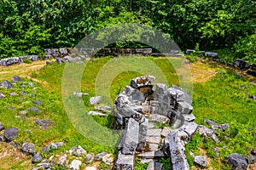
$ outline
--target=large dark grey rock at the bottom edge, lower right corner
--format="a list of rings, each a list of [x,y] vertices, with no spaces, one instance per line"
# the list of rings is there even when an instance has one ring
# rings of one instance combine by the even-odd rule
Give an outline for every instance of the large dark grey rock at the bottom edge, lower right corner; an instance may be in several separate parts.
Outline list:
[[[249,164],[247,156],[241,156],[237,153],[230,154],[230,156],[227,156],[225,160],[232,165],[233,169],[246,170]]]

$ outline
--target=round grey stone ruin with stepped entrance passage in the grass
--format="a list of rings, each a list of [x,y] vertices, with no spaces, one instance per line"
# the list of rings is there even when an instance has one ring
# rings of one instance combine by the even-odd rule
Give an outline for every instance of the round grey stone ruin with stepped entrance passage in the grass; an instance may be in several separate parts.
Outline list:
[[[115,99],[115,123],[124,131],[114,169],[135,169],[135,156],[150,162],[148,169],[162,169],[157,159],[168,156],[172,169],[189,169],[184,147],[197,129],[191,103],[176,85],[155,84],[153,76],[132,79]]]

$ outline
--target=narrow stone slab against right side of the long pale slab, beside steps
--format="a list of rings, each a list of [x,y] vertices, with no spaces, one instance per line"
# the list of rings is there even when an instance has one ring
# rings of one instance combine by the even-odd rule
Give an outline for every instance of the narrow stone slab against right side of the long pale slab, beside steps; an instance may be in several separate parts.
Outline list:
[[[138,134],[138,144],[137,151],[142,151],[146,144],[147,139],[147,131],[148,131],[148,119],[145,119],[145,122],[139,125],[139,134]]]

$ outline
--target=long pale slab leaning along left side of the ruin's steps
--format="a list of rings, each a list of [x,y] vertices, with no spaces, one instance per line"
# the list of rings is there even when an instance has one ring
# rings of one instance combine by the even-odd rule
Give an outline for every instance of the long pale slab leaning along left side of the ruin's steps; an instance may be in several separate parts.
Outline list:
[[[122,153],[134,154],[139,135],[139,123],[130,118],[125,129],[124,139],[122,139]]]

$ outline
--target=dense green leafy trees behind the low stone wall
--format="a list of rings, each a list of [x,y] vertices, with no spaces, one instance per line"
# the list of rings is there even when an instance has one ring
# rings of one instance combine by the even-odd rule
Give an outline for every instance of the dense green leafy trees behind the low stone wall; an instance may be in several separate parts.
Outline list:
[[[74,47],[118,23],[154,26],[183,50],[198,43],[256,63],[254,0],[1,0],[0,59]]]

